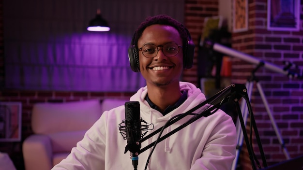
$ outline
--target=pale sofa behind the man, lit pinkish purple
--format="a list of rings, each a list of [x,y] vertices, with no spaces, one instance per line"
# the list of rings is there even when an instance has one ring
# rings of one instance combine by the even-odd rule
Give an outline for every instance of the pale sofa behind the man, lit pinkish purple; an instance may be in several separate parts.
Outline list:
[[[65,103],[36,103],[31,115],[34,132],[22,146],[26,170],[50,170],[80,141],[87,129],[126,99],[84,100]]]

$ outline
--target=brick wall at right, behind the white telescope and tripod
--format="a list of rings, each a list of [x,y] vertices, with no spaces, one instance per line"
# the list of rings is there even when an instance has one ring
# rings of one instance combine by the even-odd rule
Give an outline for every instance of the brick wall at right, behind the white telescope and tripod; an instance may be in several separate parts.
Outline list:
[[[302,1],[301,1],[302,29]],[[303,66],[303,31],[269,31],[267,30],[267,0],[249,0],[249,29],[240,33],[233,33],[232,48],[267,61],[281,68],[283,61],[290,61]],[[232,81],[245,83],[256,66],[233,59]],[[269,165],[286,160],[282,147],[278,141],[278,135],[274,132],[273,123],[276,123],[280,136],[285,142],[291,158],[303,153],[303,83],[302,80],[288,79],[284,74],[259,69],[256,73],[262,90],[269,103],[272,122],[269,113],[264,108],[260,94],[254,86],[251,104],[258,126],[263,149]],[[249,124],[250,121],[248,120]],[[255,139],[254,139],[255,140]],[[258,157],[256,141],[254,147]],[[246,150],[243,148],[243,152]],[[242,155],[247,153],[242,153]],[[261,160],[259,160],[261,162]],[[248,157],[242,156],[242,169],[250,170]]]

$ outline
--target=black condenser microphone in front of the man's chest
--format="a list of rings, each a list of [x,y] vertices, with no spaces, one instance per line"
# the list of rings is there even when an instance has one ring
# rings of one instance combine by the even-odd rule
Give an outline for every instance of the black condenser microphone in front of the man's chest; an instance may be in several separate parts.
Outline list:
[[[137,170],[138,152],[141,148],[141,143],[137,142],[142,137],[141,132],[141,117],[140,117],[140,103],[138,101],[127,101],[125,106],[125,129],[127,145],[124,154],[130,151],[134,170]]]

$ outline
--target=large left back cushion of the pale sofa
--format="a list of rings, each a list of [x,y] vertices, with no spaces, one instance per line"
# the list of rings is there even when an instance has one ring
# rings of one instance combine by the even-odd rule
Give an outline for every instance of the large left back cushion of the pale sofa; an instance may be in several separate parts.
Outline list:
[[[35,134],[87,130],[101,116],[99,100],[65,103],[36,103],[31,127]]]

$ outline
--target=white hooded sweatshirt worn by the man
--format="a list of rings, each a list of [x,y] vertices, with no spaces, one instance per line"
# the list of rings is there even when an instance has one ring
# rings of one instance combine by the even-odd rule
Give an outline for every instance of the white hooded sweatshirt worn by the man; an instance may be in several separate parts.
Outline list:
[[[181,106],[165,116],[152,109],[144,99],[147,87],[140,88],[130,101],[140,102],[143,120],[161,128],[172,116],[185,113],[205,101],[204,94],[195,85],[180,82],[180,91],[188,97]],[[164,130],[165,135],[180,127],[192,116],[186,116]],[[134,170],[129,152],[124,154],[123,140],[118,125],[125,119],[124,106],[102,114],[86,132],[71,154],[52,170]],[[152,130],[152,131],[153,131]],[[149,131],[151,133],[152,131]],[[144,148],[154,142],[158,135],[142,142]],[[182,130],[159,142],[148,164],[148,170],[230,170],[236,153],[236,128],[229,115],[221,110],[202,117]],[[138,156],[138,170],[144,170],[152,148]]]

